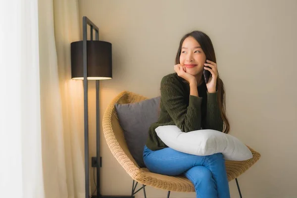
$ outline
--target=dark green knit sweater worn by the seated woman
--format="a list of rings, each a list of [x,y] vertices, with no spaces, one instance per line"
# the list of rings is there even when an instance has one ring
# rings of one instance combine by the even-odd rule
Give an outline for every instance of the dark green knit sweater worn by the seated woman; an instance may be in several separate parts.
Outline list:
[[[192,96],[190,85],[173,73],[162,78],[160,90],[160,114],[158,121],[149,127],[146,144],[149,149],[167,148],[155,132],[158,126],[176,125],[183,132],[200,129],[223,131],[217,92],[208,93],[205,83],[198,86],[199,97]]]

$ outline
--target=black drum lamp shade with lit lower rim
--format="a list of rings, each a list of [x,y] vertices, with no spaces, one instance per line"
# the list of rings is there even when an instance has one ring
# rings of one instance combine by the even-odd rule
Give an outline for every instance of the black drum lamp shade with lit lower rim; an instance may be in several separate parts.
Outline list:
[[[87,41],[88,80],[112,78],[111,43]],[[83,41],[71,43],[71,77],[83,80]]]

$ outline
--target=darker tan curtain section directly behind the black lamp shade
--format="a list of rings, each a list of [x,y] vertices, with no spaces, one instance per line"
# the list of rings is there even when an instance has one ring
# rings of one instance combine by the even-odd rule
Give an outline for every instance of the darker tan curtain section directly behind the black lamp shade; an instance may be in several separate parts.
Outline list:
[[[82,81],[71,80],[70,59],[71,42],[81,40],[78,1],[53,0],[53,8],[68,198],[85,198],[84,92]]]

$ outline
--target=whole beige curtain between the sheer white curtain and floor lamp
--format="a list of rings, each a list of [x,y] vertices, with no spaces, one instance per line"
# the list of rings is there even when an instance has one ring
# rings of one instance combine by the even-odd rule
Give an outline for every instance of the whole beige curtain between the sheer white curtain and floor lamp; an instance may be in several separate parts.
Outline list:
[[[46,198],[84,198],[82,81],[71,80],[80,40],[77,0],[39,0],[42,148]]]

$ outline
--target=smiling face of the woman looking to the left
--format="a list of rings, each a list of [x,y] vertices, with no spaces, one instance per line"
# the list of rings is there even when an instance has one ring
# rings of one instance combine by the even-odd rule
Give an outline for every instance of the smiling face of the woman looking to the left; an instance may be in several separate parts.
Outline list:
[[[196,39],[191,36],[186,38],[180,55],[180,64],[186,67],[186,72],[197,76],[203,71],[205,60],[206,56]]]

